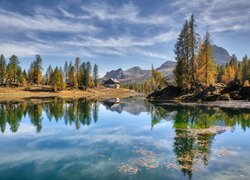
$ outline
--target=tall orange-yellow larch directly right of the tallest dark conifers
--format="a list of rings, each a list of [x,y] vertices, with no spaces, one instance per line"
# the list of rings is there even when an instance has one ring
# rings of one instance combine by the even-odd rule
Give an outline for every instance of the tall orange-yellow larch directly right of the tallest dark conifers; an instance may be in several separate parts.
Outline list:
[[[197,79],[199,82],[214,84],[216,80],[216,64],[213,58],[210,35],[207,32],[198,54]]]

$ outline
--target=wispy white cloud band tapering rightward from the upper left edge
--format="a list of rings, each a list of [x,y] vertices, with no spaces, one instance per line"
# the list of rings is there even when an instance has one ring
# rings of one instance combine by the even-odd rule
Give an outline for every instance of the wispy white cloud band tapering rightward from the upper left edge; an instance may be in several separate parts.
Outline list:
[[[40,11],[39,11],[40,12]],[[35,14],[21,15],[0,9],[0,29],[2,31],[40,30],[46,32],[93,32],[98,29],[93,25],[59,19],[56,16]]]

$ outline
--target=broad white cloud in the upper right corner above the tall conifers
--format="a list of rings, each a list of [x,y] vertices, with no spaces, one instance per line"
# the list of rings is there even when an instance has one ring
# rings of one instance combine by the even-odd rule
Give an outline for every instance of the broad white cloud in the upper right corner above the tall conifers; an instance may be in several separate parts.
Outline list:
[[[202,31],[250,31],[250,1],[248,0],[178,0],[172,3],[175,12],[185,17],[195,14]]]

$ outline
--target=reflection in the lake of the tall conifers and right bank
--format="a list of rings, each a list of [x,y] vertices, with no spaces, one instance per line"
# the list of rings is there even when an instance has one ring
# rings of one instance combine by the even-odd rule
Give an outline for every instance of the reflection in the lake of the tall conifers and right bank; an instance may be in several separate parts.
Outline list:
[[[226,108],[152,105],[146,103],[151,115],[151,127],[162,120],[173,121],[173,149],[178,167],[185,176],[208,165],[214,137],[227,129],[250,127],[250,111]]]

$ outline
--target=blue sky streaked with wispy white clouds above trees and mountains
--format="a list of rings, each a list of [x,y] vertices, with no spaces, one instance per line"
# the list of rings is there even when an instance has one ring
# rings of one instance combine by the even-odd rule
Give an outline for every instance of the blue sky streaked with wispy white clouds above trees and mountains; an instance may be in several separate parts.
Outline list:
[[[174,60],[174,44],[194,14],[196,32],[241,59],[250,55],[249,0],[0,0],[0,53],[28,68],[90,61],[100,75]]]

